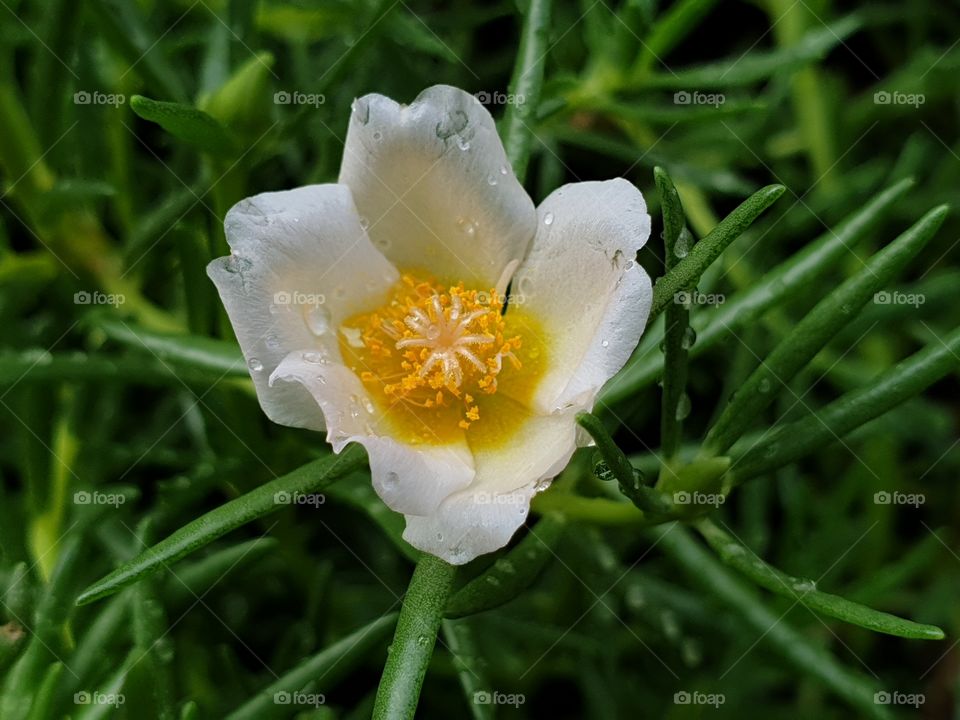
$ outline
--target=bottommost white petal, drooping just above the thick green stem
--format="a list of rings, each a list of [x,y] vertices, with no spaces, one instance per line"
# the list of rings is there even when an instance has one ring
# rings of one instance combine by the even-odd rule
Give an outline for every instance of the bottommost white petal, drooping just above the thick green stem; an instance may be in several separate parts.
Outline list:
[[[510,542],[577,447],[573,413],[530,416],[506,444],[474,453],[477,474],[466,490],[430,516],[407,515],[403,538],[414,547],[462,565]]]

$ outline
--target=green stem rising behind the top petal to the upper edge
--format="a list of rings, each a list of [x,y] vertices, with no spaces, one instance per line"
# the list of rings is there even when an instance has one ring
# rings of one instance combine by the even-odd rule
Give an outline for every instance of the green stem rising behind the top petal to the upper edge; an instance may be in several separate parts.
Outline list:
[[[513,77],[510,78],[510,95],[514,102],[507,105],[503,118],[503,145],[513,172],[521,183],[527,174],[530,147],[533,144],[533,124],[536,122],[540,90],[543,88],[550,6],[550,0],[530,0],[523,18],[520,52],[513,68]]]

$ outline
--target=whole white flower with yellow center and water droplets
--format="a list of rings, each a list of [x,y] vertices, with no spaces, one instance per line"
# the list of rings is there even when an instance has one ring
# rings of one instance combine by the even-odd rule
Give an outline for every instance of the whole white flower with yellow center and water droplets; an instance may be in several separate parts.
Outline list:
[[[208,272],[264,412],[361,443],[404,538],[454,564],[523,524],[650,308],[640,192],[580,182],[534,207],[452,87],[358,99],[337,183],[255,195],[225,225]]]

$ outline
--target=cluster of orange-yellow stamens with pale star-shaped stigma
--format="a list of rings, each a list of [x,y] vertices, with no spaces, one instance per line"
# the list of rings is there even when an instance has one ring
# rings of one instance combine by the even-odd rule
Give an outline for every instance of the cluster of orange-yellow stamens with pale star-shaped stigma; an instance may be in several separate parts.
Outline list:
[[[479,420],[470,393],[493,394],[504,360],[520,367],[520,338],[504,334],[503,305],[493,290],[447,287],[403,275],[387,304],[352,318],[344,333],[355,368],[392,405],[443,408],[463,403],[463,429]]]

